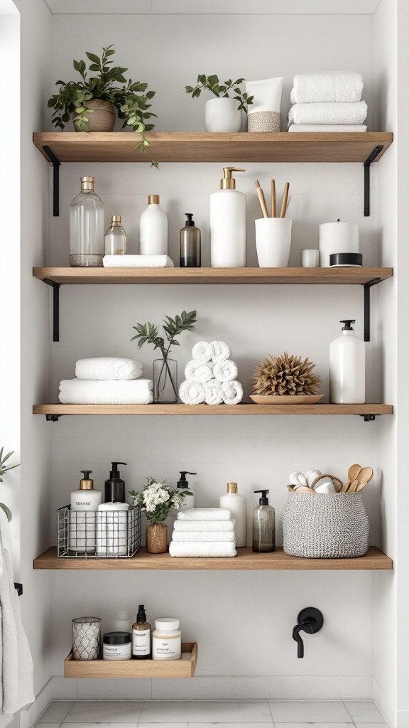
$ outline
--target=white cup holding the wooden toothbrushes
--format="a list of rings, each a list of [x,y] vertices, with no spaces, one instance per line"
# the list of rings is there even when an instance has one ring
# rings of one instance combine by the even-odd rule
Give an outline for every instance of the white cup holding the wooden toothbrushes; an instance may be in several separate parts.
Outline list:
[[[261,268],[287,268],[291,250],[291,226],[288,218],[255,220],[255,245]]]

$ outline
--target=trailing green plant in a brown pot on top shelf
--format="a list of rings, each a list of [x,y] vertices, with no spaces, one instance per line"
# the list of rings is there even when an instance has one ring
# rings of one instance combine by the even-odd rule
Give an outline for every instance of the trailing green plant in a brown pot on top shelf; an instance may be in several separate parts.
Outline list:
[[[156,116],[148,103],[155,91],[146,91],[148,84],[125,79],[127,68],[112,66],[111,56],[115,51],[112,45],[103,48],[101,58],[95,53],[87,52],[91,61],[88,71],[97,75],[87,78],[87,66],[84,60],[74,60],[74,68],[82,77],[81,81],[57,81],[58,93],[52,95],[48,107],[54,109],[52,123],[63,129],[73,117],[77,132],[111,132],[114,129],[116,112],[123,119],[122,128],[131,127],[140,134],[140,142],[135,149],[145,151],[149,142],[145,132],[154,128],[146,120]],[[116,84],[124,84],[118,86]]]

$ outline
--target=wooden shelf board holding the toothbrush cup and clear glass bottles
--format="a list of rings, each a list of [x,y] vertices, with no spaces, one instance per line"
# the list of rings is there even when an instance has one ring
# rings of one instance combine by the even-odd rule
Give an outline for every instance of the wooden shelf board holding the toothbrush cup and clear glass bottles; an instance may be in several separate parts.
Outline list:
[[[33,277],[61,285],[132,283],[364,285],[393,268],[33,268]]]

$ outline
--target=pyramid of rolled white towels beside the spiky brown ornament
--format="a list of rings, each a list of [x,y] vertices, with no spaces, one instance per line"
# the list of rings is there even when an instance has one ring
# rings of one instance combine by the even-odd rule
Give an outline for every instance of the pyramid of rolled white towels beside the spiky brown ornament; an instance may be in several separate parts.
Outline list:
[[[186,405],[237,405],[243,398],[243,387],[237,381],[237,364],[231,361],[231,350],[225,341],[199,341],[194,345],[192,360],[186,364],[185,378],[179,395]]]

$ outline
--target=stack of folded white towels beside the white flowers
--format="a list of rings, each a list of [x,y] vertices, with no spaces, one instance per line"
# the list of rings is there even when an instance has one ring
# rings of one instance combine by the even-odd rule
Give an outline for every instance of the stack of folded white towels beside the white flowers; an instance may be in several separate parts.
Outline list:
[[[188,508],[178,513],[171,556],[235,556],[234,521],[226,508]]]

